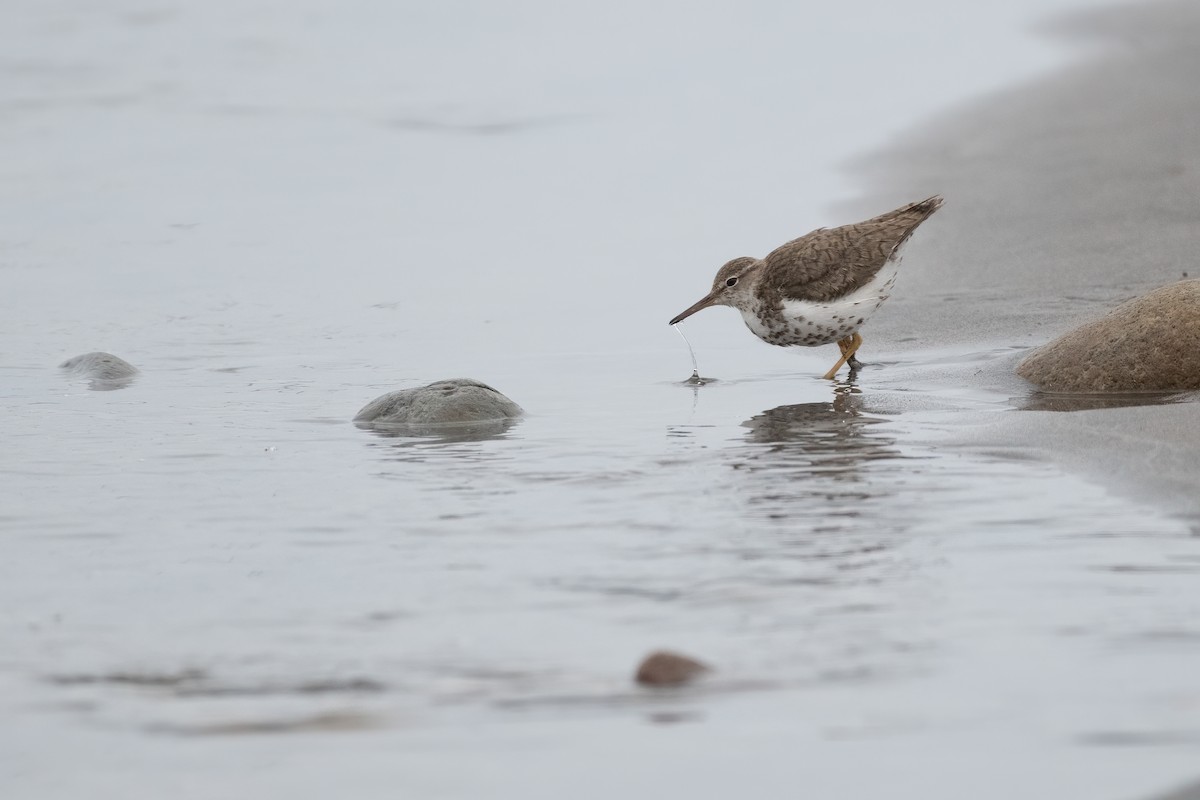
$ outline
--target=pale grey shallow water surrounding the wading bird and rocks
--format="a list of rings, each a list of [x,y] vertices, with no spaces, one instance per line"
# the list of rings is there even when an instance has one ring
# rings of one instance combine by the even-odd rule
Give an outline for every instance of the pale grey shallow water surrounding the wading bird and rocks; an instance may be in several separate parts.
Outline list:
[[[28,160],[0,235],[5,796],[1132,798],[1194,776],[1200,528],[961,444],[1038,413],[973,379],[1008,343],[874,356],[868,331],[875,362],[830,384],[833,348],[706,312],[686,333],[718,380],[683,383],[666,320],[721,248],[845,191],[822,167],[764,198],[787,154],[706,115],[788,85],[713,67],[728,19],[616,70],[619,7],[551,16],[572,58],[524,14],[476,8],[455,38],[442,12],[254,7],[30,4],[0,34]],[[770,37],[790,13],[733,18]],[[910,113],[1064,58],[1004,30],[972,47],[1008,62]],[[437,60],[451,42],[476,60]],[[689,184],[722,148],[752,152]],[[92,349],[140,374],[54,368]],[[529,415],[482,438],[350,423],[452,377]],[[661,646],[715,672],[636,688]]]

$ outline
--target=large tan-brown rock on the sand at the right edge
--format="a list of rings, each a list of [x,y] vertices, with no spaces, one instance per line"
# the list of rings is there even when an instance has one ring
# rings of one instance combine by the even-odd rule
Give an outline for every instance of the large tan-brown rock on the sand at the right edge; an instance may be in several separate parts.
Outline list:
[[[1130,300],[1034,350],[1016,373],[1055,392],[1200,389],[1200,281]]]

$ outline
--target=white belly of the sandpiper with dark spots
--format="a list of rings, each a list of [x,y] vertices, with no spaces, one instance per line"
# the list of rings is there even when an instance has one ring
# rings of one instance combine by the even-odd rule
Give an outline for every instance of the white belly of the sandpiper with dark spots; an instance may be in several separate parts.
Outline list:
[[[898,259],[883,265],[875,277],[853,293],[833,302],[785,300],[782,324],[764,324],[757,314],[743,311],[755,336],[782,347],[816,347],[852,336],[892,294],[900,266]]]

